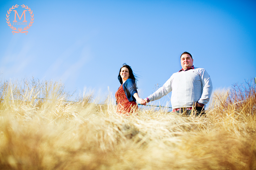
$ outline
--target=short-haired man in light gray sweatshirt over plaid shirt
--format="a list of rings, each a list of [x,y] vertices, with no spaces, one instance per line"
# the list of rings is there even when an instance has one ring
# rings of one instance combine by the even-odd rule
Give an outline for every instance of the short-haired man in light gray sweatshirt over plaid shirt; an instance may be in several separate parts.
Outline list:
[[[161,88],[144,100],[145,102],[158,100],[172,92],[173,112],[185,115],[205,114],[204,105],[209,102],[213,90],[210,76],[205,69],[194,67],[189,52],[182,53],[180,62],[182,69],[171,75]]]

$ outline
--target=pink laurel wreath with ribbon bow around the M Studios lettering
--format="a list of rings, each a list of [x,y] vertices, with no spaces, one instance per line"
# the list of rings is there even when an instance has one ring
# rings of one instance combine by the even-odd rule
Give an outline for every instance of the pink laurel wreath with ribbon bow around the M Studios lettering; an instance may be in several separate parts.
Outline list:
[[[6,14],[6,22],[7,22],[7,25],[12,29],[12,30],[18,30],[18,31],[12,31],[12,33],[14,34],[14,33],[19,33],[19,32],[21,32],[21,33],[26,33],[26,35],[27,35],[27,33],[28,33],[28,31],[22,31],[22,30],[27,30],[27,29],[29,29],[32,25],[33,25],[33,22],[34,22],[34,14],[33,14],[33,11],[28,7],[28,6],[25,6],[24,4],[22,4],[21,5],[21,7],[22,8],[25,8],[25,9],[27,9],[27,11],[30,13],[30,16],[31,16],[31,20],[30,20],[30,23],[27,25],[27,27],[25,27],[25,28],[15,28],[15,27],[13,27],[13,25],[12,25],[12,23],[9,21],[9,16],[10,16],[10,13],[11,13],[11,11],[13,10],[13,9],[15,9],[15,8],[18,8],[19,7],[19,5],[18,4],[16,4],[15,6],[13,5],[8,11],[7,11],[7,14]],[[12,34],[12,35],[13,35]]]

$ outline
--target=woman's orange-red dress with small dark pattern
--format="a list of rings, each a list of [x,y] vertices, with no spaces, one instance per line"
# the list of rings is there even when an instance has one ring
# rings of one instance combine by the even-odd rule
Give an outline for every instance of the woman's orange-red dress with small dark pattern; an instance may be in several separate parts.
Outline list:
[[[124,93],[123,85],[121,85],[116,92],[116,103],[116,112],[120,114],[125,114],[129,116],[130,113],[138,110],[138,105],[136,104],[136,102],[129,102],[129,100],[127,99]]]

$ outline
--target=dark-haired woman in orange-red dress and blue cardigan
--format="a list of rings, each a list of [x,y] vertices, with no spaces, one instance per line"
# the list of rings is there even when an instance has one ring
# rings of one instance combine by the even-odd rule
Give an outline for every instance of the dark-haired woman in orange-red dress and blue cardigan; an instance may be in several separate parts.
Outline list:
[[[133,111],[138,110],[136,100],[138,103],[145,105],[145,100],[138,95],[136,85],[137,79],[135,76],[133,75],[132,68],[124,63],[120,68],[118,75],[118,80],[121,83],[121,86],[116,92],[116,111],[127,116]]]

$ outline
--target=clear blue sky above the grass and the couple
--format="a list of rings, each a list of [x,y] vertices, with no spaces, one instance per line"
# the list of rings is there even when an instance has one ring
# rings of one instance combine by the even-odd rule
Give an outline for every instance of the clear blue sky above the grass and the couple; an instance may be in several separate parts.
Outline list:
[[[127,63],[140,75],[137,86],[145,98],[181,69],[184,51],[195,67],[207,70],[214,90],[256,77],[255,1],[0,2],[1,79],[33,76],[61,80],[69,91],[107,93],[109,87],[114,94]],[[27,35],[13,35],[6,23],[15,4],[33,10]]]

